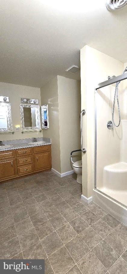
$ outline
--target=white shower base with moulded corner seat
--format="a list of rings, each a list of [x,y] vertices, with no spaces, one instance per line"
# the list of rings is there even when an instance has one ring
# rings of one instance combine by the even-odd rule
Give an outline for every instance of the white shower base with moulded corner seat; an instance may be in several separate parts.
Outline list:
[[[103,170],[103,186],[97,188],[127,206],[127,163],[107,165]]]

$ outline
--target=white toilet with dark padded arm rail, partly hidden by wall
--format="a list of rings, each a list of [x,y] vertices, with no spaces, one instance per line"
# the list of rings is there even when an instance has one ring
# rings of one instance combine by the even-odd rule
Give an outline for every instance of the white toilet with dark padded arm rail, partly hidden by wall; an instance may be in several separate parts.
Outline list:
[[[71,152],[71,163],[72,163],[74,172],[77,174],[77,183],[82,184],[82,160],[77,162],[72,161],[72,153],[76,151],[79,151],[79,150],[75,150]]]

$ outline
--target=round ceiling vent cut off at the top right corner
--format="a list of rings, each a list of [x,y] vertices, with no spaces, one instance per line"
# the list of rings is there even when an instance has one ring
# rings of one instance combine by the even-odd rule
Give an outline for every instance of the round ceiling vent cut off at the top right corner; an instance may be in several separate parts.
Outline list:
[[[107,0],[106,8],[109,11],[115,11],[118,8],[123,8],[127,4],[127,0]]]

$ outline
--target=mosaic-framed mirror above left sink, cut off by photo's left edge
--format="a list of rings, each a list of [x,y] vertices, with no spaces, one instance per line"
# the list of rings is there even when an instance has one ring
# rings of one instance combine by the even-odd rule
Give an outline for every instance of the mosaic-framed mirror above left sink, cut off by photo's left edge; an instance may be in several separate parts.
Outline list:
[[[12,131],[11,104],[0,103],[0,131]]]

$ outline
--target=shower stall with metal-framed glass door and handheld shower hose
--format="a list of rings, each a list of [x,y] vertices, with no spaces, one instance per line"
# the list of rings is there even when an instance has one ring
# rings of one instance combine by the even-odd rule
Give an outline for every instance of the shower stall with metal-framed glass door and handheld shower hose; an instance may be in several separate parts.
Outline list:
[[[104,200],[107,198],[109,203],[112,201],[115,205],[119,205],[120,212],[123,212],[127,224],[126,79],[127,73],[100,83],[95,89],[94,193],[97,193],[95,195],[98,200],[104,197]],[[115,86],[119,81],[121,122],[119,127],[115,127],[112,118],[113,101]],[[114,107],[114,120],[118,125],[117,100]],[[115,207],[113,207],[113,211],[115,211]]]

